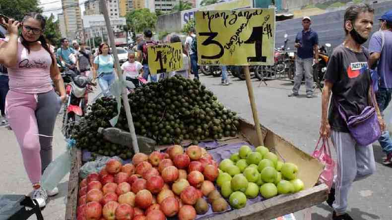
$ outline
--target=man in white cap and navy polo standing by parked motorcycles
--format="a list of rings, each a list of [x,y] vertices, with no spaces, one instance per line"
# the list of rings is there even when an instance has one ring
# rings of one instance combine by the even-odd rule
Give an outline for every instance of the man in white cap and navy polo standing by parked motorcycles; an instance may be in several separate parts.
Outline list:
[[[319,36],[310,28],[312,24],[310,17],[302,18],[303,30],[298,32],[295,37],[294,47],[297,48],[297,58],[295,60],[294,87],[289,97],[298,96],[302,78],[305,73],[306,97],[313,97],[313,51],[316,54],[315,62],[319,62]]]

